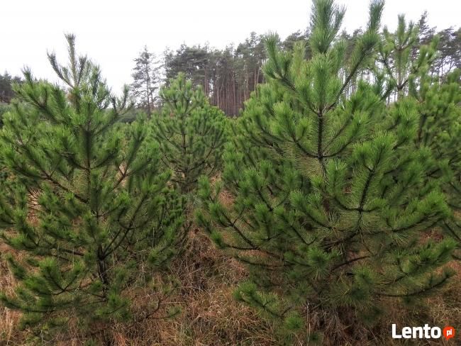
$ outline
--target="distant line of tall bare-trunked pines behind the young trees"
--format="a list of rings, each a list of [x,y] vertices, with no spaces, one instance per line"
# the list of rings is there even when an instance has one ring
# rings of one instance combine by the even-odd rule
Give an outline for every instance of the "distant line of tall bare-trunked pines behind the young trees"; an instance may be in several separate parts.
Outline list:
[[[447,28],[436,32],[427,23],[428,13],[421,15],[418,23],[414,23],[415,40],[421,44],[430,43],[435,35],[438,35],[438,57],[431,66],[431,75],[439,79],[444,78],[453,69],[461,67],[461,28]],[[352,53],[357,38],[362,34],[362,30],[355,30],[352,34],[345,31],[341,34],[348,43],[348,55]],[[306,43],[306,57],[311,57],[309,52],[309,30],[298,30],[288,35],[285,40],[277,38],[277,45],[282,50],[293,50],[294,43],[301,41]],[[221,108],[228,116],[237,116],[243,102],[250,97],[250,93],[256,89],[256,85],[264,81],[262,65],[267,56],[264,48],[265,35],[250,33],[250,36],[243,43],[237,46],[228,45],[223,50],[211,48],[209,45],[181,45],[177,50],[167,48],[159,59],[152,62],[153,65],[146,70],[155,72],[152,80],[159,83],[167,83],[169,79],[177,76],[179,72],[186,74],[195,86],[201,86],[206,95],[209,96],[210,103]],[[408,44],[408,43],[407,43]],[[147,50],[143,50],[136,58],[135,74],[139,79],[146,77],[139,71],[139,61],[143,56],[146,57]],[[152,53],[148,53],[152,57]],[[413,52],[413,57],[417,52]],[[152,59],[151,59],[152,60]],[[362,76],[367,73],[362,71]],[[368,72],[369,73],[369,72]],[[371,73],[369,73],[372,76]],[[135,83],[138,80],[135,77]],[[133,84],[134,85],[134,84]],[[146,89],[143,84],[141,89]],[[134,94],[139,94],[136,91]],[[352,90],[351,90],[352,92]],[[140,106],[147,111],[150,103],[145,99],[140,100]]]

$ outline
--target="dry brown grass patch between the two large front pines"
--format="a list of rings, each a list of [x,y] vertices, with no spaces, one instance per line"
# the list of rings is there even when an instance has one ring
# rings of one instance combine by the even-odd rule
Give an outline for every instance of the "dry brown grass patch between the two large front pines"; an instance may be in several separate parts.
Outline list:
[[[222,257],[199,233],[187,254],[172,264],[181,286],[173,302],[182,313],[167,320],[145,320],[134,328],[114,328],[116,345],[276,345],[271,326],[233,299],[245,270]]]

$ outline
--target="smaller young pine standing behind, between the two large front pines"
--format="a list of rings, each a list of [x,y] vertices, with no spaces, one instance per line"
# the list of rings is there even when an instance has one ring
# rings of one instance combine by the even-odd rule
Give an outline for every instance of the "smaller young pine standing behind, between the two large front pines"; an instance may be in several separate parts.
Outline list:
[[[153,119],[155,139],[173,182],[187,194],[195,191],[202,174],[212,177],[221,168],[226,116],[182,73],[162,88],[160,98],[164,106]]]

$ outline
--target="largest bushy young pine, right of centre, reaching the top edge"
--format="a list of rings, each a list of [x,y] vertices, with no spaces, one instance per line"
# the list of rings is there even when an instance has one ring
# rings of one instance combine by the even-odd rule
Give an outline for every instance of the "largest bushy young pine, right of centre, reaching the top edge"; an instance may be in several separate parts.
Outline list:
[[[411,302],[452,276],[456,242],[422,237],[451,211],[414,145],[419,105],[387,107],[382,74],[357,80],[377,57],[382,9],[371,2],[351,55],[332,0],[313,1],[311,60],[269,38],[267,83],[245,106],[222,179],[199,182],[197,220],[250,269],[235,297],[274,318],[287,344],[321,340],[333,316],[372,323],[389,298]]]

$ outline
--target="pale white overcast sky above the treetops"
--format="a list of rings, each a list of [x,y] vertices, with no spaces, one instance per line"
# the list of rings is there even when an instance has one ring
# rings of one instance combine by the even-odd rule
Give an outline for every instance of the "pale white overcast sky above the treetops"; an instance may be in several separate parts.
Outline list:
[[[55,81],[47,50],[66,58],[64,33],[77,35],[77,50],[101,65],[114,91],[130,83],[133,59],[147,45],[160,54],[209,43],[238,44],[251,31],[276,31],[282,38],[309,23],[311,0],[12,0],[0,6],[0,73]],[[352,32],[367,22],[368,0],[338,0],[347,8],[343,28]],[[461,26],[459,0],[387,0],[382,23],[395,28],[397,15],[417,21],[428,11],[430,26]]]

